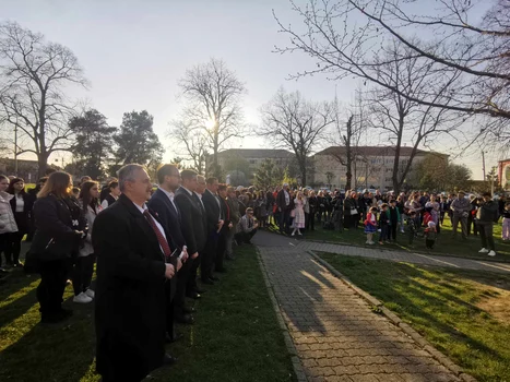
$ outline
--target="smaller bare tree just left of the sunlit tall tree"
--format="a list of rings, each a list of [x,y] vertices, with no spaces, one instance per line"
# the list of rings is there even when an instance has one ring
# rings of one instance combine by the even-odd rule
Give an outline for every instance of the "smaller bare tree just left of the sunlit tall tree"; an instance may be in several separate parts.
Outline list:
[[[179,154],[192,162],[192,168],[199,174],[204,174],[207,139],[203,130],[189,121],[175,120],[170,122],[167,136],[183,147]]]

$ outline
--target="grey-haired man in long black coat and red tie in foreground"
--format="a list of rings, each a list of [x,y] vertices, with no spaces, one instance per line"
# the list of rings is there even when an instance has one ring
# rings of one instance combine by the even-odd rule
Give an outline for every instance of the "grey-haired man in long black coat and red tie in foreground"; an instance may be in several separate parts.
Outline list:
[[[180,261],[145,202],[152,183],[140,165],[119,170],[117,203],[94,222],[96,368],[104,382],[141,381],[175,359],[165,355],[165,282]]]

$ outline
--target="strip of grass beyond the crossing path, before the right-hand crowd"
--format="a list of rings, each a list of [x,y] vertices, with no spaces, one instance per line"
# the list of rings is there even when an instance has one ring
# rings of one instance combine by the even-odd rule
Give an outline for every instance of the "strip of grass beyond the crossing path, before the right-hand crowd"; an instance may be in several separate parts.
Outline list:
[[[501,223],[494,226],[494,237],[496,242],[497,255],[489,258],[486,254],[481,254],[478,251],[482,248],[482,241],[479,236],[470,236],[466,241],[459,238],[453,240],[451,231],[451,223],[448,217],[444,219],[444,226],[441,227],[441,234],[439,235],[436,246],[432,250],[432,254],[439,255],[452,255],[460,258],[470,259],[482,259],[485,261],[499,261],[510,262],[510,242],[501,240]],[[366,246],[366,235],[363,232],[363,228],[344,230],[324,230],[318,224],[316,224],[315,231],[306,231],[306,239],[319,240],[319,241],[331,241],[339,243],[348,243],[354,246]],[[378,239],[378,237],[375,237]],[[416,238],[413,246],[408,246],[407,234],[398,234],[398,243],[390,244],[376,244],[367,247],[377,247],[380,249],[402,250],[408,252],[424,252],[428,253],[425,248],[425,239]]]

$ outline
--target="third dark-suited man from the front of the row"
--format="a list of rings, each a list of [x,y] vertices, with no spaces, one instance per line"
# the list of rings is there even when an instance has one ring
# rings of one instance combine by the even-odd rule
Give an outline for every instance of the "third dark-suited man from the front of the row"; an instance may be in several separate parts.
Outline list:
[[[181,187],[176,191],[175,202],[180,212],[181,230],[188,246],[190,256],[186,279],[186,296],[198,299],[200,289],[197,286],[197,270],[200,256],[205,247],[204,216],[205,213],[194,195],[197,189],[197,172],[183,170],[180,174]]]

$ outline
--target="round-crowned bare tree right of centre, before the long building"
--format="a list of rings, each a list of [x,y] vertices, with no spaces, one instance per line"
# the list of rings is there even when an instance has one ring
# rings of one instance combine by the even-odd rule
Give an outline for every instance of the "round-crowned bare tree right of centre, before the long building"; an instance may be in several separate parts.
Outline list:
[[[299,92],[286,93],[281,87],[276,95],[260,109],[262,127],[257,133],[275,147],[294,152],[301,184],[307,183],[307,156],[312,153],[335,120],[330,103],[312,103]]]

